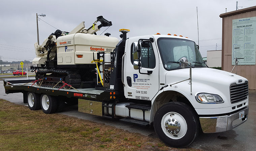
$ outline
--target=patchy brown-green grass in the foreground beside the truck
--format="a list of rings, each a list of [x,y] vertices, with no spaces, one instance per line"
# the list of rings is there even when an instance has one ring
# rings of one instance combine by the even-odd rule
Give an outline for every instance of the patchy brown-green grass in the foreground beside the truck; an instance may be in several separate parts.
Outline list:
[[[0,150],[178,150],[152,136],[63,114],[31,111],[2,99],[0,128]]]

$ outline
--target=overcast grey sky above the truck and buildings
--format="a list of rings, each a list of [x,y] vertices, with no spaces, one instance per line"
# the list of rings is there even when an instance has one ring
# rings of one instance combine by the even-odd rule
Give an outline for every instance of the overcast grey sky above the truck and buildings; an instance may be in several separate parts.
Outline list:
[[[238,1],[241,9],[256,5],[256,0]],[[130,29],[127,37],[177,34],[189,37],[197,44],[196,6],[198,7],[199,45],[202,57],[207,50],[221,50],[222,19],[220,14],[234,11],[236,0],[22,0],[1,1],[0,55],[3,61],[33,60],[37,42],[36,13],[45,22],[62,31],[70,32],[85,21],[89,28],[102,15],[113,26],[106,32],[119,40],[119,29]],[[40,44],[55,28],[42,20],[39,24]],[[97,34],[101,34],[103,27]],[[104,33],[106,33],[104,32]],[[102,35],[104,35],[104,33]]]

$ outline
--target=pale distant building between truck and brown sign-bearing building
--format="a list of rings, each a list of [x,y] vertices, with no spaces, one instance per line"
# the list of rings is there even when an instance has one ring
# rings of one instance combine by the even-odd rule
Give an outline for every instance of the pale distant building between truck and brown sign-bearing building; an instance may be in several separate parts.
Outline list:
[[[221,67],[221,50],[207,51],[207,66]]]

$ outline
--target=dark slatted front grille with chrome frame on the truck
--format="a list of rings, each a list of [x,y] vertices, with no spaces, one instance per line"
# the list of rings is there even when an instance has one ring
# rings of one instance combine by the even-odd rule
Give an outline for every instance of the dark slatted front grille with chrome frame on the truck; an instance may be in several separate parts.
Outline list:
[[[231,103],[236,103],[247,99],[248,97],[248,81],[243,84],[233,83],[230,85]]]

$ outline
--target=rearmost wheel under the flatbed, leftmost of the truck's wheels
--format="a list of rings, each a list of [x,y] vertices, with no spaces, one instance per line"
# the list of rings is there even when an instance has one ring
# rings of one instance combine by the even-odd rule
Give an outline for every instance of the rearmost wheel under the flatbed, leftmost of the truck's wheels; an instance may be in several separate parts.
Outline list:
[[[33,92],[28,92],[27,94],[28,107],[31,110],[39,110],[41,109],[40,105],[40,95],[35,94]]]

